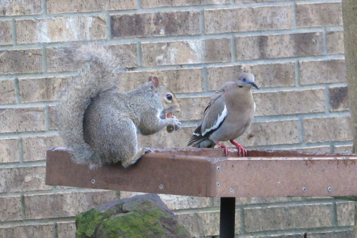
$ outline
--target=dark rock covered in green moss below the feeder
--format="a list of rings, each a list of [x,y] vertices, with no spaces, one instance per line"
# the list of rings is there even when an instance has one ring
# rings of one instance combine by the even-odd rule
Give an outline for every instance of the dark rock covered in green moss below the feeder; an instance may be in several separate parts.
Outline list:
[[[76,238],[190,238],[157,194],[97,206],[76,217]]]

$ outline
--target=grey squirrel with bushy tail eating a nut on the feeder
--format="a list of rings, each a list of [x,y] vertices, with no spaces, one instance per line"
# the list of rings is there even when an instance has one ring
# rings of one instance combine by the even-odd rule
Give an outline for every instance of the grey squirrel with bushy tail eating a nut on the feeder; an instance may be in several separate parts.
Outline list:
[[[150,148],[138,148],[137,132],[151,135],[162,128],[180,129],[181,122],[167,114],[180,111],[177,99],[156,76],[134,90],[120,92],[122,60],[109,47],[71,45],[62,57],[79,66],[59,93],[57,127],[72,160],[90,168],[121,162],[136,163]]]

